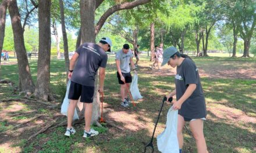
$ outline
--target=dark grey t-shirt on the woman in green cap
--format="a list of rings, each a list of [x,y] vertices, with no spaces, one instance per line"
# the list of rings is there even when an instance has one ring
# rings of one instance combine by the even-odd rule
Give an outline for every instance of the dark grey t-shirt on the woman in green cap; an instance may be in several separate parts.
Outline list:
[[[177,100],[183,96],[189,84],[196,84],[197,88],[189,99],[184,101],[179,114],[184,118],[190,119],[205,118],[207,111],[198,68],[194,61],[186,58],[181,65],[177,66],[177,74],[175,76]]]

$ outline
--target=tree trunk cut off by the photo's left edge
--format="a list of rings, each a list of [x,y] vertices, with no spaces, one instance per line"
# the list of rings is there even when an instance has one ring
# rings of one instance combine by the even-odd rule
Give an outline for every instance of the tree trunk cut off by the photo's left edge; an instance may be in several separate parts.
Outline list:
[[[0,54],[3,49],[3,39],[5,38],[5,21],[6,21],[6,10],[7,10],[8,2],[3,0],[0,4]],[[0,57],[0,68],[1,68],[1,60]]]

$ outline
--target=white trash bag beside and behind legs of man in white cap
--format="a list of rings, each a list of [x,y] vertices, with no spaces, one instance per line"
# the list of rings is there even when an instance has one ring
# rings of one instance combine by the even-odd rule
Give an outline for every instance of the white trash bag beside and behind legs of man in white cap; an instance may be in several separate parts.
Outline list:
[[[69,87],[70,87],[70,80],[67,82],[67,90],[66,90],[66,96],[65,99],[63,100],[63,103],[61,105],[61,114],[67,116],[67,108],[69,108]],[[77,114],[76,108],[74,109],[74,116],[73,116],[73,121],[79,119],[79,116]]]

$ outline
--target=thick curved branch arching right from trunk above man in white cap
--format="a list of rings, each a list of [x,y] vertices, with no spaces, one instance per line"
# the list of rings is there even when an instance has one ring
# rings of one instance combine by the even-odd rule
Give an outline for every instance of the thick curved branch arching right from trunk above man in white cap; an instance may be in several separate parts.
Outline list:
[[[143,5],[150,1],[151,0],[135,0],[133,2],[125,2],[125,3],[121,3],[118,5],[112,6],[111,8],[106,10],[106,12],[99,19],[97,25],[95,26],[95,35],[98,34],[99,30],[101,30],[102,26],[104,25],[106,19],[108,19],[108,17],[111,16],[113,13],[117,12],[118,10],[132,9],[138,5]]]

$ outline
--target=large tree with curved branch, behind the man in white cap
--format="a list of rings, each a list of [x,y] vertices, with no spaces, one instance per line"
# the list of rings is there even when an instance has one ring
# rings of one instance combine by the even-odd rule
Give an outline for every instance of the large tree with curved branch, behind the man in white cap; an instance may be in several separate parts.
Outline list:
[[[143,5],[144,3],[149,2],[150,0],[135,0],[132,2],[123,2],[118,3],[102,14],[98,23],[95,25],[95,9],[96,4],[102,2],[101,0],[80,0],[80,16],[81,16],[81,42],[95,42],[95,36],[98,34],[104,25],[106,19],[111,16],[113,13],[123,10],[123,9],[132,9],[138,5]],[[92,123],[98,123],[99,118],[99,94],[98,94],[98,76],[95,78],[95,95],[93,102],[93,118]]]

